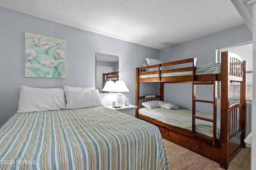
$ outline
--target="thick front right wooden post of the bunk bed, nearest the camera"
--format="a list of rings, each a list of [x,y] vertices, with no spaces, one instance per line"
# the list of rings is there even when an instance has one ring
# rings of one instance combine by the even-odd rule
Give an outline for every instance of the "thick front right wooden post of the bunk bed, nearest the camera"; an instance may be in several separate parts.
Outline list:
[[[220,167],[228,169],[228,140],[229,140],[229,68],[228,51],[221,53],[221,106],[220,106]]]

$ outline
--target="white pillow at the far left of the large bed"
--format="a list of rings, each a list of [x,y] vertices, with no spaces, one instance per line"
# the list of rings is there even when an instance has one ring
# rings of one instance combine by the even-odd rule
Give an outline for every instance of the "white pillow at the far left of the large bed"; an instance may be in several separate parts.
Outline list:
[[[17,113],[66,108],[63,88],[32,88],[22,85]]]

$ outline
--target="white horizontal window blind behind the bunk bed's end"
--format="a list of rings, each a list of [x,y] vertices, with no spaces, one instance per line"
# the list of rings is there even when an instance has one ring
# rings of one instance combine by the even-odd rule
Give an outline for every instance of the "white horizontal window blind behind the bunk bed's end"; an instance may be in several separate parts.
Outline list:
[[[252,60],[253,60],[253,44],[252,41],[247,43],[241,43],[231,45],[228,47],[218,48],[216,50],[216,63],[221,62],[221,52],[230,51],[239,55],[243,60],[246,61],[246,101],[252,102]],[[220,99],[220,83],[218,82],[218,99]],[[240,83],[230,84],[230,100],[240,100]]]

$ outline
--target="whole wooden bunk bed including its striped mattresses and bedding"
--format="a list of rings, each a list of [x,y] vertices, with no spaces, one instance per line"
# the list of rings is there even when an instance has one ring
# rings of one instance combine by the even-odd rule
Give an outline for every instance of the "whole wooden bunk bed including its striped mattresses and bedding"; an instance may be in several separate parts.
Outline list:
[[[246,62],[228,51],[222,52],[221,64],[196,66],[196,60],[192,58],[136,68],[136,117],[158,126],[163,138],[228,169],[228,163],[246,147]],[[217,115],[217,81],[221,82],[220,116]],[[159,94],[140,96],[142,82],[159,82]],[[187,96],[192,97],[190,111],[142,106],[144,102],[164,100],[164,83],[180,82],[192,85],[192,94]],[[240,84],[240,102],[230,106],[229,87],[232,82]],[[213,101],[196,98],[196,85],[202,84],[213,86]],[[197,102],[213,105],[210,117],[196,112]],[[187,112],[185,118],[178,117],[184,112]],[[204,128],[200,129],[200,126]]]

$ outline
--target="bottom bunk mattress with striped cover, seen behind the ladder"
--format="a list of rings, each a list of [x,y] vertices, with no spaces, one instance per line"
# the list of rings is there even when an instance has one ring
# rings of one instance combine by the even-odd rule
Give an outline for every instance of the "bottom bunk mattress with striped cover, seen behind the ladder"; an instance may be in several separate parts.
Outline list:
[[[185,110],[185,109],[170,110],[162,107],[148,109],[146,107],[142,107],[141,109],[139,109],[139,114],[150,117],[152,119],[156,119],[168,125],[173,125],[176,127],[180,127],[180,128],[192,131],[192,111],[189,111],[189,110]],[[213,116],[208,113],[196,112],[196,115],[200,117],[205,117],[208,119],[213,118]],[[212,134],[213,134],[212,127],[213,127],[213,123],[196,119],[196,126],[195,126],[196,133],[200,133],[202,135],[212,137]],[[217,127],[216,138],[220,139],[220,116],[217,116],[216,127]]]

